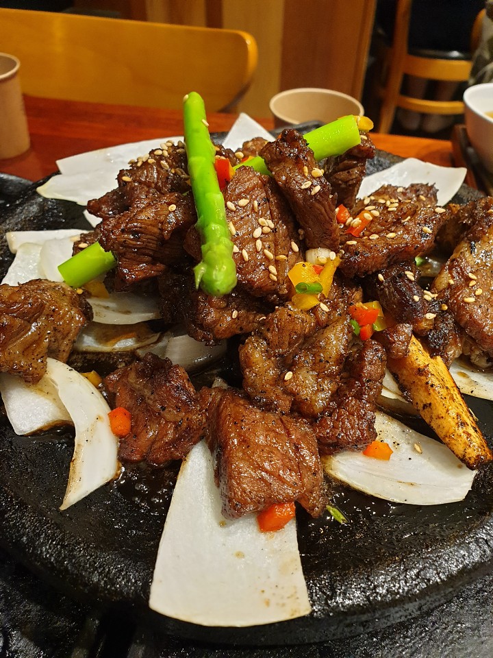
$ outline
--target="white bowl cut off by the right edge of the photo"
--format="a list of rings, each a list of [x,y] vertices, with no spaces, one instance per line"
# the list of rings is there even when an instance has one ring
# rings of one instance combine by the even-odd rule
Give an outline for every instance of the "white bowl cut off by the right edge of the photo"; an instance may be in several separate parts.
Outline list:
[[[493,173],[493,82],[475,84],[464,92],[464,117],[469,141],[488,171]]]

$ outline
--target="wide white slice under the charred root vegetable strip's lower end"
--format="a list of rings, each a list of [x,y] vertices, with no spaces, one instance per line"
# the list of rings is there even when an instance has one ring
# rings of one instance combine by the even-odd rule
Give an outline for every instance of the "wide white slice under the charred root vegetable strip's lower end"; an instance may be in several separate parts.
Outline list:
[[[375,428],[378,438],[394,451],[389,461],[361,452],[340,452],[323,457],[327,474],[353,489],[392,502],[439,505],[464,499],[475,472],[446,446],[380,412]]]

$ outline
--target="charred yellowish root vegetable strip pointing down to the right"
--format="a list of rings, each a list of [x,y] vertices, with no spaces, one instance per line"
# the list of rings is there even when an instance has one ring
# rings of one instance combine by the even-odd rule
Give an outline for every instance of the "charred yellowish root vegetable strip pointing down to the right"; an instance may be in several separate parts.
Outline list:
[[[413,406],[442,441],[469,468],[493,454],[440,356],[431,358],[414,337],[405,358],[389,358],[388,368]]]

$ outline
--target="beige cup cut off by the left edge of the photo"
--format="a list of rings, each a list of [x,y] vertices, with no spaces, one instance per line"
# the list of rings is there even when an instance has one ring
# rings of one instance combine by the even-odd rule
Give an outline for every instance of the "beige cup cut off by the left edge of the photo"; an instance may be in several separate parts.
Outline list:
[[[29,148],[20,65],[13,55],[0,53],[0,159],[20,156]]]

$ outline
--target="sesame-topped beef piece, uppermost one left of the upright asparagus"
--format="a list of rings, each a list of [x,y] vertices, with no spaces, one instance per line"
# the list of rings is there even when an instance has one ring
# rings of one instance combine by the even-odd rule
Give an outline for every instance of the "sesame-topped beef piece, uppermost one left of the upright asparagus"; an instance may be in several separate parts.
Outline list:
[[[130,160],[129,165],[128,169],[119,171],[116,190],[88,202],[87,208],[92,215],[101,219],[120,215],[138,204],[150,189],[164,195],[190,191],[186,152],[181,142],[177,146],[163,143],[162,148]]]

